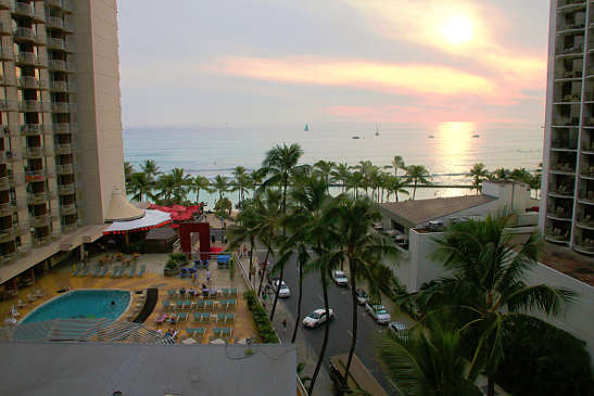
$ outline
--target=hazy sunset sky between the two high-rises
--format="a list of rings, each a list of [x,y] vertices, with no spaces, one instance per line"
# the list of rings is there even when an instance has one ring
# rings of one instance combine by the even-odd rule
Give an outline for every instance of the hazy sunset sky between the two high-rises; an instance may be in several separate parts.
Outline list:
[[[124,127],[543,124],[544,0],[119,0]]]

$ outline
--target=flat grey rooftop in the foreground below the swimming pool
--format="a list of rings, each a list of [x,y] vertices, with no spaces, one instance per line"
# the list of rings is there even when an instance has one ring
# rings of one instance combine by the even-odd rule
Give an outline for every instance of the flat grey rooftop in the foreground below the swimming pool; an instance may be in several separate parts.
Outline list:
[[[2,395],[260,396],[296,388],[293,344],[0,342],[0,348]]]

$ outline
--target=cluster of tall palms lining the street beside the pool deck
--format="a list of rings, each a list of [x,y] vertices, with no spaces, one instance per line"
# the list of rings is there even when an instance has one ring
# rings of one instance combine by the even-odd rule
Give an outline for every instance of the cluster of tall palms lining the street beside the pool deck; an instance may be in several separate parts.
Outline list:
[[[319,277],[324,309],[329,311],[328,283],[331,270],[349,266],[352,280],[352,345],[346,367],[350,370],[357,340],[356,282],[366,279],[369,284],[378,280],[371,271],[372,265],[383,257],[394,256],[397,252],[390,238],[377,233],[372,225],[380,215],[368,196],[355,199],[344,193],[339,196],[329,194],[333,165],[317,163],[314,166],[300,165],[302,150],[298,144],[278,145],[271,149],[263,162],[263,181],[252,199],[244,201],[238,219],[241,223],[229,227],[228,235],[232,246],[256,243],[265,247],[263,263],[273,258],[271,271],[282,282],[286,267],[294,265],[299,272],[296,299],[298,318],[301,317],[303,281],[308,272]],[[342,170],[345,166],[342,166]],[[338,171],[340,173],[340,170]],[[344,173],[345,174],[345,173]],[[376,195],[375,195],[376,196]],[[250,281],[256,272],[250,257]],[[267,268],[265,266],[263,268]],[[258,294],[265,269],[260,273]],[[280,288],[276,288],[275,301],[270,311],[274,319]],[[371,286],[372,295],[379,298],[379,288]],[[299,320],[292,333],[295,341]],[[325,325],[324,341],[318,361],[314,369],[308,393],[313,394],[316,379],[321,368],[330,334]],[[344,376],[344,379],[346,375]],[[345,382],[344,382],[345,384]]]

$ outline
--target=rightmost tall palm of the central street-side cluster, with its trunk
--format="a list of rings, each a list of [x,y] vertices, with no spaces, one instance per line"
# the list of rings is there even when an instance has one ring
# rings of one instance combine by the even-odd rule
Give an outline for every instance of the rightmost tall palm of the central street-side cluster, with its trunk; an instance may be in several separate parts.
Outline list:
[[[393,240],[374,230],[374,225],[381,220],[371,200],[365,197],[350,200],[341,196],[338,204],[329,209],[333,212],[338,220],[338,234],[340,235],[340,252],[343,253],[342,260],[349,263],[351,272],[351,306],[353,310],[351,349],[344,370],[343,385],[346,386],[351,361],[357,343],[357,294],[356,282],[358,279],[367,279],[372,285],[372,294],[379,295],[376,280],[372,274],[372,267],[381,263],[382,258],[396,258],[399,250]]]

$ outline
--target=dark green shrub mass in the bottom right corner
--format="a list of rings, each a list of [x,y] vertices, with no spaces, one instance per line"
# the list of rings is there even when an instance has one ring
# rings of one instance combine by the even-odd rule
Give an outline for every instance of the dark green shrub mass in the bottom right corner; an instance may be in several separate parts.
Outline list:
[[[594,395],[585,343],[542,320],[506,322],[495,380],[514,395]]]

